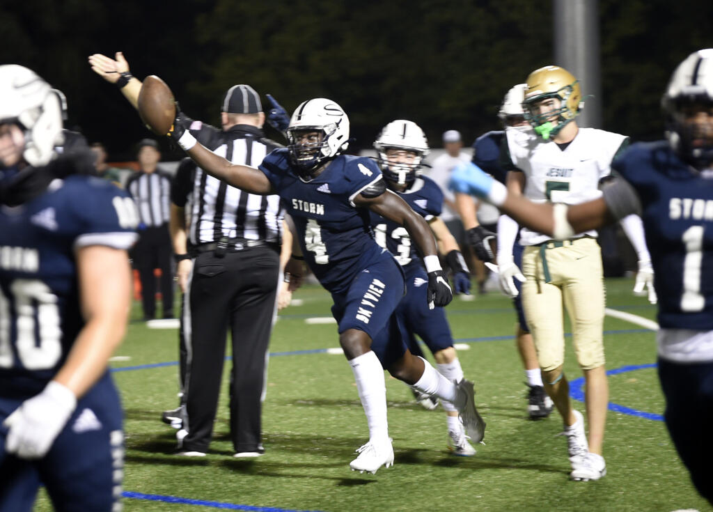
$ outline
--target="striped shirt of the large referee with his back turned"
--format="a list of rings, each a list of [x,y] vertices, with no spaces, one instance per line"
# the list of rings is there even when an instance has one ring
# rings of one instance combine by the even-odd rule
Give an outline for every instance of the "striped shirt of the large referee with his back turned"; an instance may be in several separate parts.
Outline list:
[[[223,131],[188,120],[186,127],[206,148],[232,163],[257,167],[267,153],[280,147],[255,126],[236,125]],[[277,195],[244,192],[207,175],[190,160],[178,168],[171,200],[185,208],[191,245],[221,237],[281,242],[284,212]]]

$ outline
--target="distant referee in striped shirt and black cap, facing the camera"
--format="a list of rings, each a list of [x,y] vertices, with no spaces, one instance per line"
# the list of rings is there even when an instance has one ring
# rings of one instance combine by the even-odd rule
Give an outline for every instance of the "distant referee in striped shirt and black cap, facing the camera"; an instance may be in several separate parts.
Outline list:
[[[171,243],[168,235],[171,178],[158,167],[161,153],[158,143],[145,138],[138,143],[138,173],[126,182],[126,190],[136,203],[139,214],[139,239],[133,260],[141,281],[143,319],[155,318],[156,277],[161,270],[163,317],[173,318],[173,280],[171,278]]]

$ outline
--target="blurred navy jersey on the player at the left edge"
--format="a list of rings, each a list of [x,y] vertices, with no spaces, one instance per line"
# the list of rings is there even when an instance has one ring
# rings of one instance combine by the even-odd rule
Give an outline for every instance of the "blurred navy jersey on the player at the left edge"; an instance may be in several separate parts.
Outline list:
[[[101,178],[70,175],[28,202],[0,206],[0,396],[39,393],[80,329],[76,250],[128,249],[133,200]]]

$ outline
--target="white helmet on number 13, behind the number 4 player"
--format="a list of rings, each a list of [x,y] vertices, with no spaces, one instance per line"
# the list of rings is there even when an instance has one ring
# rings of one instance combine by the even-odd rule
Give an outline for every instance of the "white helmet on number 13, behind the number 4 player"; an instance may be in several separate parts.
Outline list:
[[[413,163],[389,162],[386,157],[386,150],[389,148],[413,151],[416,153],[416,160]],[[421,162],[429,154],[429,141],[424,130],[414,121],[396,119],[381,130],[374,140],[374,149],[379,153],[378,160],[384,178],[399,185],[406,185],[413,183],[416,176],[421,174]]]

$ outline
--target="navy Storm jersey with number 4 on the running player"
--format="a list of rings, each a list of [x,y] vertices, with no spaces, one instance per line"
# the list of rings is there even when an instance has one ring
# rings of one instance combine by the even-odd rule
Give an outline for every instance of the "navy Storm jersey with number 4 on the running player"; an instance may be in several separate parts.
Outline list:
[[[369,210],[353,200],[381,180],[371,158],[339,155],[305,182],[292,170],[287,149],[273,150],[260,164],[297,227],[304,260],[330,292],[347,290],[354,277],[384,252],[374,241]]]

